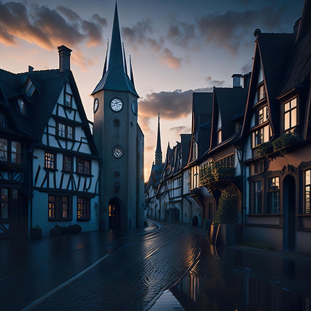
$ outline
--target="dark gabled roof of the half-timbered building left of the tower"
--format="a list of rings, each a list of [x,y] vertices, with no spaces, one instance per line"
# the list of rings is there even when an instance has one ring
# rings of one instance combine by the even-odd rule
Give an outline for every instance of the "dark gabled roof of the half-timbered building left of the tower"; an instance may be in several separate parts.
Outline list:
[[[35,91],[30,97],[24,92],[27,78],[30,78],[35,86]],[[44,129],[48,124],[48,120],[52,115],[67,80],[71,84],[78,112],[82,120],[82,127],[88,138],[92,153],[98,156],[78,93],[78,87],[70,70],[64,71],[63,73],[60,73],[58,69],[52,69],[20,74],[0,70],[0,88],[5,98],[6,108],[10,112],[16,128],[20,133],[27,134],[37,142],[41,141]],[[16,102],[18,97],[23,98],[26,102],[26,115],[21,115],[18,111]]]

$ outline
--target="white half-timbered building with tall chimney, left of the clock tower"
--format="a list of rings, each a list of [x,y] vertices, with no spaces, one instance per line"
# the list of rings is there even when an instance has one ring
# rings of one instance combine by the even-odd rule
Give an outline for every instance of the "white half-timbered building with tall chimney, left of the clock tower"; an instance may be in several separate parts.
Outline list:
[[[98,230],[99,155],[78,87],[71,50],[59,69],[1,75],[1,228],[43,235],[55,226]],[[5,201],[5,202],[4,202]]]

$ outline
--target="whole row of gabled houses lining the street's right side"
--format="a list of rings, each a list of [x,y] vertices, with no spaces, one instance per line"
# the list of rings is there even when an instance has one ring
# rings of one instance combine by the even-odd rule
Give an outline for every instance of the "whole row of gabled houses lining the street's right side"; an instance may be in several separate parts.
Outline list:
[[[207,229],[227,195],[240,240],[311,250],[310,14],[306,0],[293,33],[256,29],[252,71],[193,93],[192,133],[168,146],[145,187],[150,217]]]

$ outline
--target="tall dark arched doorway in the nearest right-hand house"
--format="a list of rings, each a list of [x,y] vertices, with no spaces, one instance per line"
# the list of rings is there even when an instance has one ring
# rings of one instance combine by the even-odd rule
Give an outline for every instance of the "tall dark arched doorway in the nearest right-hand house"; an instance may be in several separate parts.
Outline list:
[[[296,181],[292,175],[283,180],[283,248],[295,249]]]

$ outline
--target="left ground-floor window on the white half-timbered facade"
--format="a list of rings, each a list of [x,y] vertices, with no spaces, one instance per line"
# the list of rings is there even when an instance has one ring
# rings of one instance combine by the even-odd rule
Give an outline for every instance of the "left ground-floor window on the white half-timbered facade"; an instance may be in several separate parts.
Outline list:
[[[52,205],[53,208],[51,207]],[[67,211],[67,217],[64,217],[65,211]],[[48,221],[68,221],[72,219],[73,197],[48,194]]]

